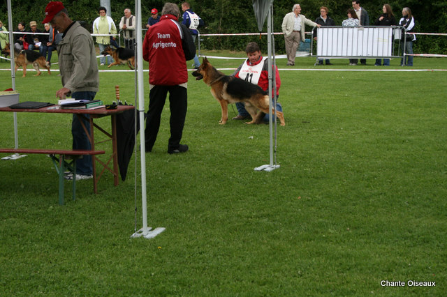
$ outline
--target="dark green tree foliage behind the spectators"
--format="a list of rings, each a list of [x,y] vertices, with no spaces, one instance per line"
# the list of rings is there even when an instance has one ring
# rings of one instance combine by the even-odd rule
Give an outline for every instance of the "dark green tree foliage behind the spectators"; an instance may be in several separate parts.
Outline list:
[[[91,31],[91,24],[98,17],[97,8],[100,1],[72,0],[63,1],[73,20],[85,22],[85,27]],[[135,1],[110,0],[111,15],[115,23],[118,24],[123,16],[124,8],[131,8],[134,12]],[[157,8],[161,13],[163,4],[168,1],[149,0],[142,1],[142,27],[145,28],[147,18],[152,8]],[[175,1],[173,1],[175,2]],[[402,16],[402,8],[411,8],[416,19],[416,31],[425,33],[447,33],[447,0],[420,1],[420,0],[390,0],[386,1],[393,7],[395,16],[398,19]],[[43,20],[43,12],[48,0],[18,1],[11,0],[13,7],[13,25],[16,28],[18,22],[29,24],[36,20],[39,29],[43,29],[40,24]],[[181,2],[178,2],[179,4]],[[233,0],[191,0],[191,8],[205,20],[205,28],[200,29],[200,33],[256,33],[258,31],[252,1]],[[274,1],[273,2],[273,28],[275,32],[281,32],[281,23],[286,13],[291,12],[295,1]],[[335,20],[337,25],[342,24],[346,19],[346,10],[351,8],[351,1],[337,0],[302,0],[299,1],[302,14],[309,20],[315,20],[319,15],[319,8],[326,6],[329,8],[329,15]],[[384,2],[378,0],[362,1],[361,6],[369,13],[369,20],[374,24],[374,20],[381,14]],[[181,10],[180,10],[181,11]],[[0,20],[8,26],[8,10],[6,0],[0,4]],[[9,28],[8,28],[9,29]],[[307,31],[311,28],[306,27]],[[266,24],[264,32],[267,31]],[[261,48],[265,48],[267,38],[263,36],[238,36],[238,37],[210,37],[203,38],[203,47],[209,49],[244,50],[249,41],[258,41]],[[284,52],[284,38],[275,37],[275,48],[277,52]],[[432,54],[446,54],[447,37],[418,36],[418,41],[414,45],[416,52]]]

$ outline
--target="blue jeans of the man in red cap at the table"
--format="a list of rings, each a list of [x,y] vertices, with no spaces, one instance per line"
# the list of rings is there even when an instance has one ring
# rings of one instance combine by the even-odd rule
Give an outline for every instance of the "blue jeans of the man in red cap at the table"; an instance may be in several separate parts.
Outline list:
[[[73,99],[86,99],[93,100],[95,98],[96,92],[80,91],[71,94]],[[71,122],[71,135],[73,135],[73,149],[85,149],[91,150],[91,143],[87,134],[85,134],[84,128],[82,128],[82,123],[84,123],[85,128],[90,133],[90,116],[88,114],[82,114],[80,119],[76,114],[73,114],[73,121]],[[91,155],[85,155],[80,159],[76,160],[76,174],[91,175],[93,174],[93,167],[91,165]]]

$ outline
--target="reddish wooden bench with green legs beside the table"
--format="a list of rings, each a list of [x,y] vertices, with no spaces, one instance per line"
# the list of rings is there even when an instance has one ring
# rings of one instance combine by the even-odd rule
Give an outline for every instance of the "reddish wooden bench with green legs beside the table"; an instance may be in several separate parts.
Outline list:
[[[57,173],[59,174],[59,204],[64,205],[64,172],[73,173],[73,200],[76,197],[76,162],[78,158],[84,155],[101,155],[105,151],[84,151],[84,150],[56,150],[56,149],[34,149],[34,148],[0,148],[0,153],[38,153],[49,155],[54,163]],[[59,155],[59,158],[57,157]],[[69,156],[69,158],[66,158]],[[95,171],[95,169],[94,169]],[[96,172],[94,172],[96,178]]]

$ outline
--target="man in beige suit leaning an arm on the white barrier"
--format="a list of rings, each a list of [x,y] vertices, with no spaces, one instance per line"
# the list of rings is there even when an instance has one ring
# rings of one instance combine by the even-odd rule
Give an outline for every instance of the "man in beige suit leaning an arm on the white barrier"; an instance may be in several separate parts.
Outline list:
[[[282,32],[284,33],[284,40],[286,42],[287,66],[295,65],[296,50],[300,42],[305,42],[305,24],[309,26],[321,25],[307,20],[305,15],[301,15],[300,4],[295,4],[291,13],[286,14],[282,20]]]

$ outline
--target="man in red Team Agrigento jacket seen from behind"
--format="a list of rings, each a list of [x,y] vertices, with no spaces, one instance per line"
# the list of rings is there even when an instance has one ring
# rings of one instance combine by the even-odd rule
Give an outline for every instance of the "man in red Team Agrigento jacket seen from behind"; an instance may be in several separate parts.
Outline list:
[[[142,55],[149,61],[149,111],[145,129],[145,150],[152,151],[160,128],[161,112],[169,92],[170,139],[168,153],[188,151],[180,144],[187,109],[186,61],[196,54],[191,33],[177,22],[180,10],[177,4],[166,3],[160,22],[150,26],[142,45]]]

